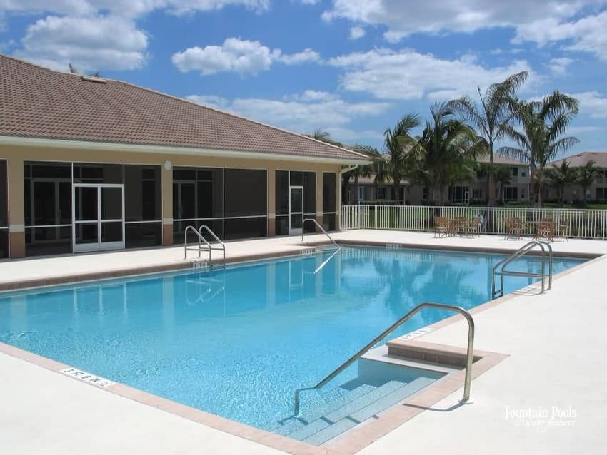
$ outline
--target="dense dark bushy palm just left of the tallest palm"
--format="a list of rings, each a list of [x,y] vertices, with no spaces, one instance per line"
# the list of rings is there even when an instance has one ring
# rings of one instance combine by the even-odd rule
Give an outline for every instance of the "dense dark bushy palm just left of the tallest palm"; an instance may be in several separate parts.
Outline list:
[[[484,143],[470,126],[454,117],[448,103],[434,103],[430,112],[432,120],[426,121],[411,155],[417,161],[417,180],[438,190],[442,205],[447,185],[473,178],[472,160]]]

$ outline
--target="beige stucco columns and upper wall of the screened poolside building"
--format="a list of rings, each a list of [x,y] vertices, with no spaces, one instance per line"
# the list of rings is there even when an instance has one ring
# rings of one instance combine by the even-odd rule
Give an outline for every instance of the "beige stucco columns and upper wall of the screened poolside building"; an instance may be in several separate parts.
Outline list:
[[[191,166],[208,168],[264,169],[267,177],[268,235],[274,235],[275,170],[308,170],[316,174],[316,216],[322,213],[322,173],[336,174],[341,165],[333,163],[302,162],[291,160],[224,158],[173,153],[140,153],[131,150],[85,150],[23,145],[0,145],[0,159],[7,160],[9,174],[9,244],[11,257],[23,257],[24,246],[24,161],[61,161],[80,163],[148,164],[162,166],[162,221],[163,245],[171,245],[173,223],[173,173],[164,168],[170,160],[173,167]],[[246,190],[246,188],[243,188]],[[336,207],[339,182],[336,180]]]

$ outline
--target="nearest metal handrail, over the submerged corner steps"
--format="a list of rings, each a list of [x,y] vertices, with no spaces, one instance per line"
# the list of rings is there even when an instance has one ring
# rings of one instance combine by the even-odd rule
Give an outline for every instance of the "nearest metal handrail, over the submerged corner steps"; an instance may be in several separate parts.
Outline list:
[[[299,414],[299,401],[300,401],[301,392],[306,391],[306,390],[317,390],[317,389],[320,389],[321,387],[323,387],[324,385],[326,385],[328,382],[330,382],[332,379],[334,379],[338,374],[343,372],[344,369],[348,368],[351,364],[356,362],[356,360],[358,360],[360,357],[362,357],[363,354],[365,354],[369,349],[374,347],[378,342],[380,342],[382,339],[384,339],[389,334],[394,332],[394,330],[398,329],[398,327],[400,327],[402,324],[407,322],[408,319],[411,319],[411,317],[413,317],[413,315],[415,315],[418,311],[423,310],[423,308],[441,308],[442,310],[458,312],[461,315],[463,315],[463,317],[466,318],[466,321],[468,321],[468,349],[466,352],[466,358],[467,358],[467,360],[466,360],[466,378],[464,379],[464,384],[463,384],[462,401],[465,402],[468,399],[470,399],[470,384],[472,381],[472,361],[473,361],[473,347],[474,347],[474,319],[472,319],[472,316],[470,315],[470,313],[467,312],[466,310],[464,310],[462,307],[458,307],[456,305],[446,305],[444,303],[424,302],[424,303],[421,303],[420,305],[417,305],[415,308],[413,308],[413,310],[411,310],[406,315],[401,317],[401,319],[398,319],[398,321],[394,322],[394,324],[392,324],[386,330],[381,332],[381,334],[379,334],[377,337],[373,338],[373,341],[366,344],[365,347],[363,347],[361,350],[356,352],[356,354],[354,354],[352,357],[350,357],[348,360],[346,360],[346,362],[343,362],[343,364],[341,364],[338,368],[333,370],[333,372],[331,374],[329,374],[327,377],[325,377],[321,382],[318,382],[318,384],[316,384],[314,387],[303,387],[301,389],[297,389],[295,391],[295,407],[294,407],[295,415]]]

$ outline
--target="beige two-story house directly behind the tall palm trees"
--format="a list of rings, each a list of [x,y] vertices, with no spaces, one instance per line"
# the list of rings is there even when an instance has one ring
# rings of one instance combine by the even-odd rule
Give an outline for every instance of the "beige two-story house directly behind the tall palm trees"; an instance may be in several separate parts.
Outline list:
[[[483,156],[477,159],[478,163],[488,163],[489,157]],[[496,198],[504,202],[526,201],[529,197],[529,168],[526,163],[512,158],[493,155],[493,163],[506,167],[511,172],[510,182],[506,185],[496,184]],[[368,201],[391,200],[392,183],[384,182],[375,185],[375,176],[358,178],[358,194],[353,185],[353,178],[348,186],[350,202],[362,203]],[[438,200],[438,195],[432,194],[432,189],[418,183],[401,182],[401,200],[407,205],[427,205],[432,200]],[[404,198],[403,198],[404,195]],[[436,197],[433,197],[436,196]],[[487,200],[486,177],[477,177],[472,182],[456,183],[448,188],[444,194],[444,200],[451,204],[483,204]]]

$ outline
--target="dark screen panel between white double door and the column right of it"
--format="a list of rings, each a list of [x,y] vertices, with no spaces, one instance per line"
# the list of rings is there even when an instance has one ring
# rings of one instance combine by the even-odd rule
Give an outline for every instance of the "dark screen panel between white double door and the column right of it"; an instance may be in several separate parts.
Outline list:
[[[162,245],[160,166],[124,166],[125,247]]]

